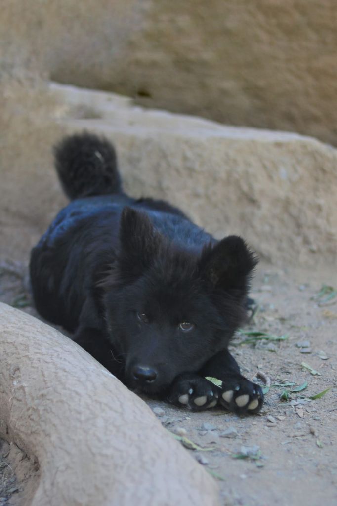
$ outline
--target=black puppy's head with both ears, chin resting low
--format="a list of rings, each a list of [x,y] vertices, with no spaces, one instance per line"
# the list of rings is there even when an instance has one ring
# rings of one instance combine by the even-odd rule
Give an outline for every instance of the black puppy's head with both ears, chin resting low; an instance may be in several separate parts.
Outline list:
[[[123,210],[119,239],[104,282],[109,335],[125,357],[129,386],[155,394],[228,345],[245,318],[257,260],[237,236],[206,244],[201,254],[178,248],[131,208]]]

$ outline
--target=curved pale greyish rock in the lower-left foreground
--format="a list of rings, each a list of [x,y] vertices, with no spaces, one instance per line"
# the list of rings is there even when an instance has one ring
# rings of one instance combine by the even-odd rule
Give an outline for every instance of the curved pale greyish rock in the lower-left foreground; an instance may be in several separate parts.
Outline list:
[[[56,329],[0,304],[0,357],[0,436],[37,470],[22,504],[218,504],[146,404]]]

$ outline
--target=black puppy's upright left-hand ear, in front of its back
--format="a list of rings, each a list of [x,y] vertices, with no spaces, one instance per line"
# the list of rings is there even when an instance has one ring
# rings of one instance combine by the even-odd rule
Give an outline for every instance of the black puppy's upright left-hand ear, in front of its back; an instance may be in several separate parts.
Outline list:
[[[119,225],[118,270],[123,278],[132,280],[142,275],[152,264],[161,237],[145,213],[124,207]]]

